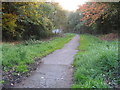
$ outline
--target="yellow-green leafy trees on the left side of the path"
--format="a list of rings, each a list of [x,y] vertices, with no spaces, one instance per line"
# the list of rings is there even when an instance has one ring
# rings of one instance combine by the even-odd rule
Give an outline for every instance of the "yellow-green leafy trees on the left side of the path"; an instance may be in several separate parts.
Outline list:
[[[65,11],[55,2],[2,2],[4,41],[50,37],[53,29],[64,28],[65,21]]]

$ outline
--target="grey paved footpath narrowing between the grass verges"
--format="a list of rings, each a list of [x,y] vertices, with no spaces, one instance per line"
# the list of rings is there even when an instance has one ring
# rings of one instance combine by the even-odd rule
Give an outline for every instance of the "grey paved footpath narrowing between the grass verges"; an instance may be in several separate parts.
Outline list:
[[[71,64],[78,46],[79,35],[76,35],[62,49],[44,57],[37,70],[15,88],[70,88],[73,79]]]

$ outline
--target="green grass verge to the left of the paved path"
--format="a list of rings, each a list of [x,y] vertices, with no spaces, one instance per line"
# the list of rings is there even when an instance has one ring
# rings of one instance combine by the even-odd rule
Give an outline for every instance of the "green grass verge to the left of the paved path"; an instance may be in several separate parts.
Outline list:
[[[63,47],[73,36],[74,34],[66,34],[64,37],[55,37],[53,40],[46,42],[33,40],[27,44],[3,44],[3,80],[5,80],[5,83],[9,81],[13,84],[16,77],[20,77],[33,68],[31,66],[36,60],[40,60],[43,56]]]

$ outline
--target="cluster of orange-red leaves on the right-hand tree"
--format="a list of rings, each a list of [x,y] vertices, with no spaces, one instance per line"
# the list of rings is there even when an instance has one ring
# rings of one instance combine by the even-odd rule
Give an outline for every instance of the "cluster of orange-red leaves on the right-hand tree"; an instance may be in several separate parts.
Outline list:
[[[105,19],[108,16],[108,8],[109,6],[105,3],[92,2],[89,4],[84,4],[78,9],[78,11],[80,11],[84,16],[82,19],[80,19],[80,21],[87,20],[85,24],[87,26],[91,26],[92,24],[95,24],[96,20],[98,20],[100,17]],[[101,23],[103,23],[103,21]]]

